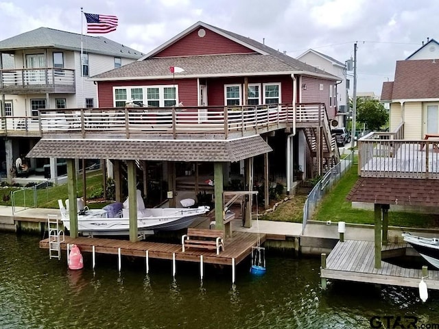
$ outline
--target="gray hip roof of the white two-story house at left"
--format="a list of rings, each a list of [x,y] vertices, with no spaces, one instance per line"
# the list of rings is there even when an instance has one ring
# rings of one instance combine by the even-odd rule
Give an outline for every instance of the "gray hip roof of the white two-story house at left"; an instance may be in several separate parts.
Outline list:
[[[71,51],[81,50],[88,53],[99,53],[108,56],[138,59],[143,56],[141,51],[132,49],[118,42],[112,41],[103,36],[86,36],[72,32],[50,29],[49,27],[38,27],[29,32],[12,36],[0,41],[0,51],[12,52],[19,49],[32,48],[54,48]]]

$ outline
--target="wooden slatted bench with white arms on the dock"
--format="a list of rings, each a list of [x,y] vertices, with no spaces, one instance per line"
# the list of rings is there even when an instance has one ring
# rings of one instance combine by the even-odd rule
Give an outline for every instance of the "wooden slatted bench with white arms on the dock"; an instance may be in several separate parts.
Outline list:
[[[186,248],[219,249],[224,252],[224,232],[222,230],[206,230],[200,228],[188,228],[187,234],[181,237],[182,252]]]

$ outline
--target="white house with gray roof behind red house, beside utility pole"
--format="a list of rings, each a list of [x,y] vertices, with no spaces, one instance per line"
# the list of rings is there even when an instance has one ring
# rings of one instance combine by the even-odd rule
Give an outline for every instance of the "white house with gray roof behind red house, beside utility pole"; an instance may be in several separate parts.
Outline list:
[[[335,88],[333,88],[333,90],[329,90],[329,93],[335,96],[335,100],[329,104],[328,112],[331,112],[331,116],[335,117],[338,127],[345,127],[349,112],[349,80],[346,77],[346,64],[313,49],[308,49],[305,51],[305,53],[302,53],[300,56],[298,56],[297,59],[320,70],[340,77],[341,80],[335,85]],[[307,86],[302,86],[302,88],[307,88]]]

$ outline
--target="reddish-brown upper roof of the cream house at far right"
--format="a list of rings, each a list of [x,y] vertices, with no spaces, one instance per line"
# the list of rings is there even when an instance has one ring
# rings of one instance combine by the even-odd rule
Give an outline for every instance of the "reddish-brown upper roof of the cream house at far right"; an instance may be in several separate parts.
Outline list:
[[[439,99],[439,60],[397,61],[394,82],[383,83],[381,100],[399,99]]]

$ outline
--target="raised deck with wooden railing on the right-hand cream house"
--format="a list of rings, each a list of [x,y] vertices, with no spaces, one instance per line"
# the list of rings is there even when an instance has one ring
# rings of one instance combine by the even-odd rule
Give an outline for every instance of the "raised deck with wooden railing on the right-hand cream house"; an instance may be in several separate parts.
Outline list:
[[[403,138],[396,132],[371,132],[358,141],[359,175],[381,178],[439,178],[439,139]]]

